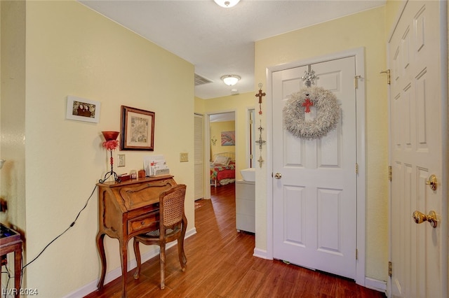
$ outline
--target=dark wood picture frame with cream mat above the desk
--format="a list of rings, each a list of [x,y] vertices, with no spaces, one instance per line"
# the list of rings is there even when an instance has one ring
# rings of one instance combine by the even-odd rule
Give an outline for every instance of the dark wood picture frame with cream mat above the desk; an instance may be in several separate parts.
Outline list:
[[[121,106],[120,150],[154,150],[154,112]]]

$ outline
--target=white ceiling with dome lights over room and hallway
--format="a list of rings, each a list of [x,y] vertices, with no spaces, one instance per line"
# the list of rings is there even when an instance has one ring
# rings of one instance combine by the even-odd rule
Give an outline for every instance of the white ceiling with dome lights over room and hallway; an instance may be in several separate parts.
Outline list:
[[[255,41],[382,6],[385,0],[241,0],[232,8],[213,0],[79,2],[194,64],[195,73],[213,81],[196,86],[195,96],[210,99],[236,93],[232,89],[254,91]],[[227,74],[241,80],[229,87],[220,80]]]

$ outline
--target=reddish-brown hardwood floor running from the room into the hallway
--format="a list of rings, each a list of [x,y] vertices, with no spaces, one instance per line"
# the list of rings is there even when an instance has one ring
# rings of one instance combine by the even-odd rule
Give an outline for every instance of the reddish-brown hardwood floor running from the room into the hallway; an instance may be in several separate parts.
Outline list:
[[[176,248],[167,250],[166,288],[159,288],[159,257],[142,264],[140,279],[128,272],[128,297],[385,297],[354,281],[253,257],[253,234],[236,232],[234,184],[211,187],[195,211],[196,234],[185,241],[187,270]],[[117,278],[88,298],[121,297]]]

